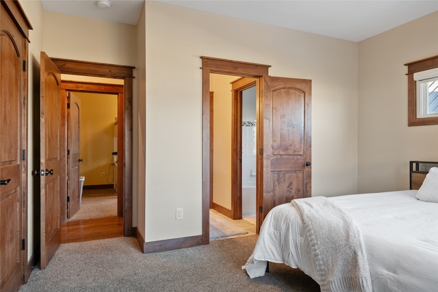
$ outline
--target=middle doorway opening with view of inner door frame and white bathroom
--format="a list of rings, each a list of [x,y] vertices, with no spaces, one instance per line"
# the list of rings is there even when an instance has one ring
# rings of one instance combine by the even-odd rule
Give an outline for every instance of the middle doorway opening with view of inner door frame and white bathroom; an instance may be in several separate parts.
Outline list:
[[[222,235],[244,232],[239,226],[255,233],[256,81],[210,74],[211,239],[221,229]],[[246,218],[242,220],[243,209]]]

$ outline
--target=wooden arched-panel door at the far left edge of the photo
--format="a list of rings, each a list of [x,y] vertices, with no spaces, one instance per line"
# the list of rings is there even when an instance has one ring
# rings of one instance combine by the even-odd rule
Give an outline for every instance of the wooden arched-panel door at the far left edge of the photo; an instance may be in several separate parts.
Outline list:
[[[1,3],[0,11],[0,291],[21,285],[22,149],[27,43]],[[24,41],[23,41],[24,40]],[[25,64],[25,63],[24,63]]]

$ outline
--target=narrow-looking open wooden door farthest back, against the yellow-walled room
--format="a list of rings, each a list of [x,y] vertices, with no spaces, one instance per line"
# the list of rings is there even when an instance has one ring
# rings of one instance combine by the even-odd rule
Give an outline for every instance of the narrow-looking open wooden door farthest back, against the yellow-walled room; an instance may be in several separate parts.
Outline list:
[[[62,90],[65,94],[65,90]],[[80,162],[80,117],[81,100],[67,92],[67,217],[71,218],[79,209],[79,162]]]

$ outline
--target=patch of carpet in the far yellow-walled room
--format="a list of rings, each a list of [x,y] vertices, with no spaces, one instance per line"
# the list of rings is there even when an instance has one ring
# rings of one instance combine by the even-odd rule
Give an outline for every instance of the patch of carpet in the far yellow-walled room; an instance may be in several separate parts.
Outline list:
[[[82,196],[81,209],[72,220],[117,216],[117,196]]]

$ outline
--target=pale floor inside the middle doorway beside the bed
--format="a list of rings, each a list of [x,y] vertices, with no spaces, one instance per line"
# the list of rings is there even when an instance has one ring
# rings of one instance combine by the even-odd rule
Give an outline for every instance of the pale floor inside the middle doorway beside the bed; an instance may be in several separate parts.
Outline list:
[[[255,225],[246,220],[232,220],[210,209],[210,239],[255,234]]]

